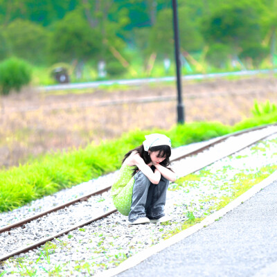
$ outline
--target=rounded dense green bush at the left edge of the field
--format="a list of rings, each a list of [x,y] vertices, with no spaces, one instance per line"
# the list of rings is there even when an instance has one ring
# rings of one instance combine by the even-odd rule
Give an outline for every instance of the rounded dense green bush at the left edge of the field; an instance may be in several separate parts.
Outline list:
[[[0,93],[8,94],[12,89],[19,91],[31,80],[30,65],[24,60],[11,57],[0,63]]]

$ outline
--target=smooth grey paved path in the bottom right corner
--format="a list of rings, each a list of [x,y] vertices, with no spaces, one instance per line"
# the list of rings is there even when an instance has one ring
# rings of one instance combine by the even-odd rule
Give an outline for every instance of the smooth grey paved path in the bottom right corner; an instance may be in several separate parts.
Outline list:
[[[117,276],[277,276],[277,181],[219,221]]]

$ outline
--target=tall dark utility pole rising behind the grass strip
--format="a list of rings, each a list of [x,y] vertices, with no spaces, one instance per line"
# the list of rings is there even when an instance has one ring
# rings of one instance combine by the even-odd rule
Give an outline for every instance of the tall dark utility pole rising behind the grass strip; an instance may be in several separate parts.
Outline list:
[[[178,91],[178,104],[177,104],[177,123],[184,123],[184,105],[182,102],[181,92],[181,57],[179,47],[179,28],[178,28],[178,12],[177,0],[172,0],[173,9],[173,28],[174,28],[174,42],[175,42],[175,61],[176,61],[176,75],[177,75],[177,91]]]

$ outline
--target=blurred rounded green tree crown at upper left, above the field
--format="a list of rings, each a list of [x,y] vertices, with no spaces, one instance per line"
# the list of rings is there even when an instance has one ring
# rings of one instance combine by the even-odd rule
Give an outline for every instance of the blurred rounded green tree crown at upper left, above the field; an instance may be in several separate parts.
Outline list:
[[[101,13],[98,14],[98,21],[102,16]],[[114,58],[111,48],[119,52],[123,50],[125,43],[116,35],[120,28],[118,24],[105,20],[101,25],[91,26],[92,24],[81,8],[68,12],[58,21],[50,39],[49,51],[53,62],[110,60]]]

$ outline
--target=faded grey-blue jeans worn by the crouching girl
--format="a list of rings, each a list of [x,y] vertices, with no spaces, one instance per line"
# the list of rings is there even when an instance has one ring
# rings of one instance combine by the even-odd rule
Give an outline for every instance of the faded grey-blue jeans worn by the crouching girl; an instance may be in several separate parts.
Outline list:
[[[134,186],[132,195],[131,211],[128,219],[134,222],[140,217],[148,217],[150,220],[157,220],[165,215],[163,208],[166,204],[166,191],[169,181],[161,176],[159,184],[150,182],[143,172],[136,172],[134,175]]]

